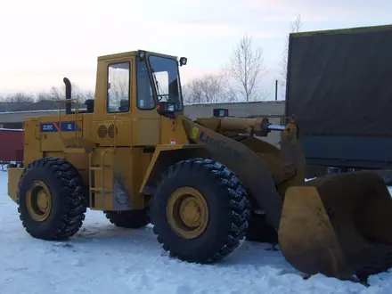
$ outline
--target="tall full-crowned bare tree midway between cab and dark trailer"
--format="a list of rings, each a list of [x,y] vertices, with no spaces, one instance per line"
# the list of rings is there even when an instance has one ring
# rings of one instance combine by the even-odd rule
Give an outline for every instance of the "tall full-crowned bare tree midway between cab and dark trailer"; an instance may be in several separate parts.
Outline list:
[[[257,101],[268,95],[260,87],[260,81],[266,73],[263,49],[254,49],[252,38],[248,34],[234,48],[225,73],[232,100]]]

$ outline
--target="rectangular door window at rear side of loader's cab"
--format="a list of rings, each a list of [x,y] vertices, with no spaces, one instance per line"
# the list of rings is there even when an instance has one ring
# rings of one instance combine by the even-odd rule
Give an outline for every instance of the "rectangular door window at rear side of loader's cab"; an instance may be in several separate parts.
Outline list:
[[[108,66],[107,110],[109,113],[129,111],[130,68],[129,62],[112,63]]]

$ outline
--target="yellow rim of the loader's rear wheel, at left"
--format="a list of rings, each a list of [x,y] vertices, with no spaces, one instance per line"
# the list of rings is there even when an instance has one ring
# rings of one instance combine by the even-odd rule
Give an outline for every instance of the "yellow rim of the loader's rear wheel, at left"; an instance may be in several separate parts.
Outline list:
[[[34,181],[26,193],[29,215],[37,222],[43,222],[52,210],[52,193],[42,181]]]

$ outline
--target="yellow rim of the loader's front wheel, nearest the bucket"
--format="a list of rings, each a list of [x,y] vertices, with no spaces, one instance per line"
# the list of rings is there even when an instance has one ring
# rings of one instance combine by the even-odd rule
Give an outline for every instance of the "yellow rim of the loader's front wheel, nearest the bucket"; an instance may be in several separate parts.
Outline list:
[[[208,225],[207,201],[196,189],[179,188],[167,201],[167,221],[180,237],[197,238]]]

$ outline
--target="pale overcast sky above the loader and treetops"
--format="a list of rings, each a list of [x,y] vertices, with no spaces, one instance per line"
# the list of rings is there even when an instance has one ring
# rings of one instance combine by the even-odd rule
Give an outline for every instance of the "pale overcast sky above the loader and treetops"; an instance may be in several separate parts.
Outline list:
[[[0,0],[0,93],[94,89],[98,55],[145,49],[187,56],[183,80],[214,73],[244,33],[274,83],[290,21],[303,30],[388,24],[390,0]],[[273,85],[271,85],[273,87]]]

